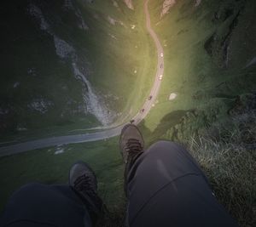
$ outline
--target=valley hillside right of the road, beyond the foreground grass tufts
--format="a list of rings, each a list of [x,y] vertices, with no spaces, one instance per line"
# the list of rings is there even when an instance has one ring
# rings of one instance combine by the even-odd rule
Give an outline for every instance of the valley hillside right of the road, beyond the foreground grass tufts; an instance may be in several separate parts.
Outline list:
[[[172,126],[171,139],[204,134],[213,124],[229,122],[237,99],[255,97],[256,3],[166,0],[151,3],[151,9],[166,57],[165,93],[160,93],[165,98],[159,103],[167,108],[167,99],[172,101],[173,116],[185,106],[189,110]],[[183,102],[187,105],[180,105]],[[255,110],[247,110],[242,115],[254,115]],[[166,111],[166,117],[160,118],[162,127],[173,116]]]

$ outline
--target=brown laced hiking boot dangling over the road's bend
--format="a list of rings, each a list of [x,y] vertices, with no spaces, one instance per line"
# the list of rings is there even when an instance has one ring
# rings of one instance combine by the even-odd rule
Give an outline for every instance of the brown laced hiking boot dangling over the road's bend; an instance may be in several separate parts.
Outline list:
[[[135,125],[127,124],[122,129],[119,145],[125,164],[132,164],[143,153],[143,135]]]

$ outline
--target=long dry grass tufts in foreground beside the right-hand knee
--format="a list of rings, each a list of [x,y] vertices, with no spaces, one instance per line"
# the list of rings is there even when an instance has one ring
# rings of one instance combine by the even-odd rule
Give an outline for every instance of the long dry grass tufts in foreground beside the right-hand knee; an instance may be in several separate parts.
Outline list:
[[[256,191],[253,186],[255,150],[201,137],[188,144],[211,183],[218,201],[240,226],[253,226]]]

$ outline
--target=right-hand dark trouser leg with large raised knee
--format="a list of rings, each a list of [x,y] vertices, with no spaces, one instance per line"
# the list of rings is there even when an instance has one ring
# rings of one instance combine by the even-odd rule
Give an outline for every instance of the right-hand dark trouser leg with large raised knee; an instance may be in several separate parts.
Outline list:
[[[141,150],[130,166],[126,180],[129,226],[237,226],[182,146],[157,142]]]

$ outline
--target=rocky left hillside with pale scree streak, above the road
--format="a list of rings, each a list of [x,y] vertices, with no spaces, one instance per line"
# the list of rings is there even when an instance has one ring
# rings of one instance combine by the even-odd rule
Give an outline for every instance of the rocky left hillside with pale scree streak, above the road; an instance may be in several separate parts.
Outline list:
[[[131,1],[125,3],[133,9]],[[119,97],[110,89],[95,88],[91,80],[102,76],[94,75],[97,54],[105,61],[103,54],[116,51],[107,44],[117,41],[120,32],[129,34],[124,30],[130,24],[119,13],[129,9],[116,1],[103,12],[99,8],[100,3],[90,0],[15,0],[0,9],[6,25],[0,54],[0,134],[81,119],[84,128],[114,121],[118,111],[113,103]],[[109,48],[101,53],[104,44]]]

